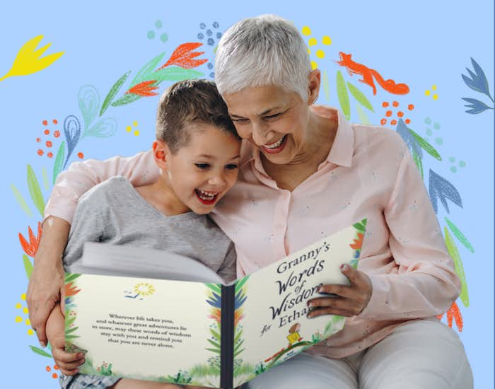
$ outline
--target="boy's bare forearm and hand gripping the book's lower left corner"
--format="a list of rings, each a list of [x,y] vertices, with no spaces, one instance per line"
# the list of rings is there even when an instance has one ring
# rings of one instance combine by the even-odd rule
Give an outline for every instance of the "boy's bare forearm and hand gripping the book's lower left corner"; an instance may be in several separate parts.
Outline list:
[[[47,338],[52,345],[52,355],[55,364],[66,376],[72,376],[78,372],[77,367],[84,363],[84,354],[69,353],[65,347],[65,318],[62,315],[60,304],[57,303],[47,320]]]

